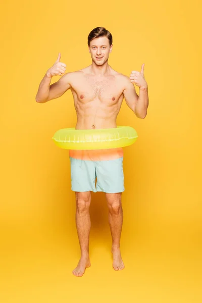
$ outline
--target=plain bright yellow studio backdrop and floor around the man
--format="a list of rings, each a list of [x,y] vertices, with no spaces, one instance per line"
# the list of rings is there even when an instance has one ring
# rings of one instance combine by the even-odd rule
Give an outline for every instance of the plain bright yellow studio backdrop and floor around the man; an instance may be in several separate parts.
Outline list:
[[[200,22],[199,0],[3,4],[2,303],[201,302]],[[77,278],[70,162],[52,140],[75,126],[73,98],[37,104],[35,95],[59,52],[67,71],[91,64],[87,36],[97,26],[113,35],[115,70],[129,76],[145,63],[149,108],[141,120],[124,101],[117,120],[139,136],[124,148],[125,269],[112,268],[105,196],[93,193],[91,267]]]

